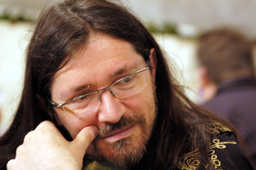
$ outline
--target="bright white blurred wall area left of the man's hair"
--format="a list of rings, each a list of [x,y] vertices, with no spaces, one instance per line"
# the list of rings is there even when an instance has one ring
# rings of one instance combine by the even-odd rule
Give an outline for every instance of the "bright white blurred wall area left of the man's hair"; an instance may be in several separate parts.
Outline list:
[[[28,23],[0,20],[0,134],[9,125],[19,101],[24,73],[24,53],[28,43]]]

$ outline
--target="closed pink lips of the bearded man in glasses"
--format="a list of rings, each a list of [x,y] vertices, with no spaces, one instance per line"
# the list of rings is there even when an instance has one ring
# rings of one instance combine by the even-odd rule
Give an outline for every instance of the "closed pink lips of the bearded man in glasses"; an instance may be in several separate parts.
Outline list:
[[[118,129],[118,130],[114,130],[107,136],[102,136],[102,139],[104,139],[108,142],[116,142],[118,140],[121,140],[121,139],[129,136],[129,134],[132,132],[133,128],[134,128],[134,125],[131,125],[129,127],[124,127],[124,128]]]

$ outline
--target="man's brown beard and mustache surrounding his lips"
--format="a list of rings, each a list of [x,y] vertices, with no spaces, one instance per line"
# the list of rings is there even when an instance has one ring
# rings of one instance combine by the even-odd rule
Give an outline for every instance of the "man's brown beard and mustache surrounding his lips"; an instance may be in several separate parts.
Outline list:
[[[116,142],[104,143],[103,146],[100,143],[102,136],[106,136],[122,127],[136,124],[141,126],[141,134],[132,134]],[[151,126],[147,125],[146,118],[142,113],[136,113],[130,117],[121,117],[118,123],[106,123],[104,127],[99,128],[98,136],[91,144],[89,157],[100,162],[108,162],[120,169],[127,169],[137,164],[146,152],[146,145],[152,130]]]

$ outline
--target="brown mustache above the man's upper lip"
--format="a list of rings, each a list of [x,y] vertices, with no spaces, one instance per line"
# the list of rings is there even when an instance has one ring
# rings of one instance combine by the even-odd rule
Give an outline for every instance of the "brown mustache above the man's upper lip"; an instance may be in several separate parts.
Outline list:
[[[99,127],[97,138],[108,135],[114,130],[118,130],[122,127],[128,127],[130,125],[135,125],[136,123],[142,123],[143,126],[146,123],[146,118],[142,113],[133,114],[130,117],[121,117],[117,123],[106,123],[104,127]]]

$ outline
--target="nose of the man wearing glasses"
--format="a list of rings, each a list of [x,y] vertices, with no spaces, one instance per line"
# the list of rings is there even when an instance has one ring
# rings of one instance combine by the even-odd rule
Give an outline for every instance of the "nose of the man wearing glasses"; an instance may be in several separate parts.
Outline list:
[[[100,95],[101,103],[98,111],[100,122],[117,123],[126,112],[126,107],[115,97],[110,90],[106,90]]]

